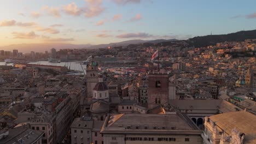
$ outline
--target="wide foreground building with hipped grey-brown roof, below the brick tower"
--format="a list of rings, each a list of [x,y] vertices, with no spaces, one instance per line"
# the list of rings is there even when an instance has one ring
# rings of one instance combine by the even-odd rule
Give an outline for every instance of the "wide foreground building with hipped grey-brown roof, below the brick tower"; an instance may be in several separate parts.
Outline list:
[[[189,119],[188,119],[189,120]],[[186,120],[187,121],[187,120]],[[104,144],[202,143],[201,130],[182,115],[120,114],[106,118],[101,133]]]

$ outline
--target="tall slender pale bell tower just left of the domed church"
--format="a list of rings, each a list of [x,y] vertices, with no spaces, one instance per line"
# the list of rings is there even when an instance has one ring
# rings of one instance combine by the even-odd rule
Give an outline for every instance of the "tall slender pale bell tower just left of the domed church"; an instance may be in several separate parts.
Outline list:
[[[86,97],[92,98],[93,88],[98,83],[98,64],[91,61],[86,69]]]

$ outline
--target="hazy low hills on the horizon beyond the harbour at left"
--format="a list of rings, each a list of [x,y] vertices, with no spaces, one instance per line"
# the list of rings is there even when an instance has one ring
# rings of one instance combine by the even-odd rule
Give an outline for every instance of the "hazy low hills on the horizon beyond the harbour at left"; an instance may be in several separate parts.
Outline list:
[[[34,52],[50,52],[50,49],[55,48],[56,50],[60,49],[80,49],[85,47],[90,47],[91,44],[85,45],[75,45],[75,44],[61,44],[61,43],[41,43],[41,44],[15,44],[0,47],[0,50],[4,51],[13,51],[18,50],[19,52],[30,53]]]

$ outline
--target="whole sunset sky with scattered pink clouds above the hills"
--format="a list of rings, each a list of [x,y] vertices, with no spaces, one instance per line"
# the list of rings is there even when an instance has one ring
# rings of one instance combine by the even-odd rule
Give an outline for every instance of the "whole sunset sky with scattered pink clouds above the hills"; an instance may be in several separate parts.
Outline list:
[[[256,29],[255,0],[8,0],[0,46],[188,39]]]

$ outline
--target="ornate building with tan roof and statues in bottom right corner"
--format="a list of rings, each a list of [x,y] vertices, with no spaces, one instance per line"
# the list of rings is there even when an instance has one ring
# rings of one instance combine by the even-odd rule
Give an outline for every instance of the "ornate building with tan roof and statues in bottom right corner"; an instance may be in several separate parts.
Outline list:
[[[256,116],[246,111],[205,118],[203,144],[256,143]]]

